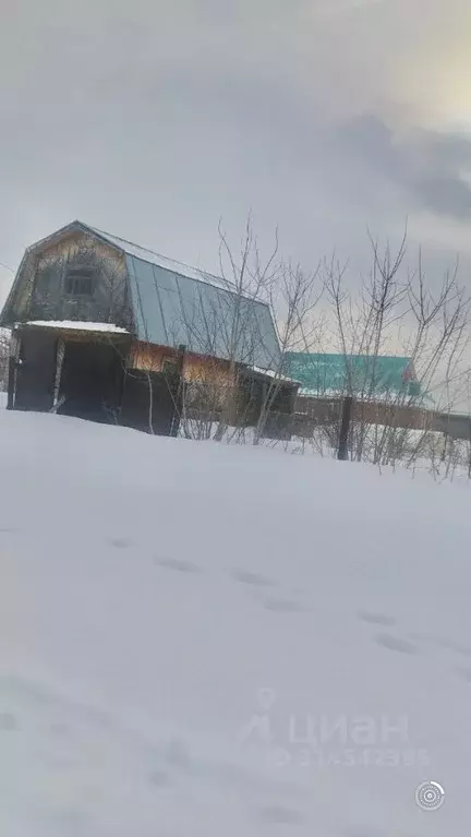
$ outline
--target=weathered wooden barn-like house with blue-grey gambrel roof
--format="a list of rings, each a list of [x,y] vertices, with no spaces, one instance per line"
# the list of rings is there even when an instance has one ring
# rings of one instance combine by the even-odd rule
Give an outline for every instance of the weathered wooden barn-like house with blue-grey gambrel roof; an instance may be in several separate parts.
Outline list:
[[[269,307],[81,222],[26,250],[0,326],[12,330],[12,409],[174,434],[183,409],[256,423],[269,390],[267,425],[287,432],[298,384],[274,387]]]

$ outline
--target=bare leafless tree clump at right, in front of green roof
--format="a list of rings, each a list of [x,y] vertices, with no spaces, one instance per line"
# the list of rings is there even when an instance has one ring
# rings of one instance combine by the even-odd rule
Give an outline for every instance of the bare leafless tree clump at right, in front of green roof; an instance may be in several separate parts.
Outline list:
[[[469,343],[469,297],[459,286],[457,266],[434,295],[421,253],[418,270],[402,275],[406,242],[404,232],[396,251],[389,243],[382,251],[370,236],[372,268],[359,292],[349,287],[347,265],[333,260],[325,267],[345,359],[342,394],[354,402],[350,455],[390,465],[398,458],[411,464],[421,455],[430,439],[431,398],[440,392],[450,407]],[[398,348],[409,358],[410,378],[420,387],[407,380],[400,386],[379,380],[382,356],[396,355]]]

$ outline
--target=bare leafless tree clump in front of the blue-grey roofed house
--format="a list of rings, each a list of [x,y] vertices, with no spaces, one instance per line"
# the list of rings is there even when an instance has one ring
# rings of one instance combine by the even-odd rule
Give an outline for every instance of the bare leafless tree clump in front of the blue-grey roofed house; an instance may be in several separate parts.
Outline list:
[[[268,421],[287,421],[282,396],[290,386],[285,352],[307,346],[313,311],[322,296],[319,266],[311,273],[278,256],[278,235],[268,258],[261,256],[247,218],[234,254],[219,224],[219,270],[222,291],[201,295],[185,310],[189,346],[205,357],[198,373],[186,384],[183,428],[192,438],[224,438],[259,443]],[[264,302],[271,322],[259,316]],[[274,342],[274,334],[277,335]],[[255,415],[256,414],[256,415]]]

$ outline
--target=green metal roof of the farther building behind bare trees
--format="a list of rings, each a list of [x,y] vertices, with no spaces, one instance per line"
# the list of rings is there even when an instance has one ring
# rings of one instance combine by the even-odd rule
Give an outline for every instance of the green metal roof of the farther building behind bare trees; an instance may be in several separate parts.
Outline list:
[[[421,394],[413,363],[404,357],[288,351],[285,372],[301,382],[302,395],[348,392],[364,397],[400,394],[412,397]]]

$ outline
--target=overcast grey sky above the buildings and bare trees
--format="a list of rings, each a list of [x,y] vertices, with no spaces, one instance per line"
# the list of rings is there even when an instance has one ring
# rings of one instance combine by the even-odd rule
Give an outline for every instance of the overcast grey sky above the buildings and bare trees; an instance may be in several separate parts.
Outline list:
[[[80,218],[217,270],[252,210],[306,267],[409,218],[471,287],[470,0],[0,7],[4,265]]]

